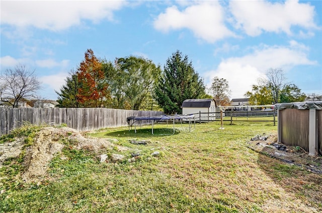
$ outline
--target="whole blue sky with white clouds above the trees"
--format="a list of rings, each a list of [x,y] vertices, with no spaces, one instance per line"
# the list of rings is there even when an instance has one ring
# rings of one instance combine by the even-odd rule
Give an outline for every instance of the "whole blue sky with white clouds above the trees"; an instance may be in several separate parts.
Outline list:
[[[24,64],[57,99],[91,48],[101,58],[144,56],[162,67],[176,50],[210,86],[229,82],[230,98],[269,68],[322,95],[322,1],[3,1],[1,72]]]

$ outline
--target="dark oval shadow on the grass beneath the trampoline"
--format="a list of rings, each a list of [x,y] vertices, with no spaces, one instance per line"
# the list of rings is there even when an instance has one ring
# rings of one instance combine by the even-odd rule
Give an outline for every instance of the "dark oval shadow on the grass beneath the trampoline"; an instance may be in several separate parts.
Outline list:
[[[173,132],[173,128],[155,128],[152,130],[148,128],[144,129],[136,129],[136,133],[134,129],[131,130],[121,130],[121,131],[113,131],[108,132],[104,135],[106,136],[113,136],[113,137],[164,137],[164,136],[171,136],[174,134],[179,134],[180,130],[175,129],[175,133]]]

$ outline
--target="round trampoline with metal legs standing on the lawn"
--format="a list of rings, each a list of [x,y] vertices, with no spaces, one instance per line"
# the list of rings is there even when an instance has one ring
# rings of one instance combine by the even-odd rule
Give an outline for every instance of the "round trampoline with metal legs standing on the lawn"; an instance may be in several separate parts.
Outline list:
[[[126,121],[129,125],[129,131],[130,127],[132,129],[132,126],[134,125],[134,132],[136,133],[136,122],[142,121],[142,120],[150,120],[151,121],[151,133],[154,135],[153,132],[153,127],[155,122],[159,121],[172,121],[173,122],[173,133],[175,133],[175,123],[176,121],[179,122],[182,126],[182,121],[187,121],[189,126],[189,132],[192,132],[193,130],[196,129],[196,121],[195,121],[195,116],[194,115],[158,115],[158,116],[130,116],[126,118]]]

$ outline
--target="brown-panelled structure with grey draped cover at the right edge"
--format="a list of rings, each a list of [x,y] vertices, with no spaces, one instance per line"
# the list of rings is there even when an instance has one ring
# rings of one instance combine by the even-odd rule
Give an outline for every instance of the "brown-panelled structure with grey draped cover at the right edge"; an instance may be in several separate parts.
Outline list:
[[[278,142],[322,154],[322,101],[275,104]]]

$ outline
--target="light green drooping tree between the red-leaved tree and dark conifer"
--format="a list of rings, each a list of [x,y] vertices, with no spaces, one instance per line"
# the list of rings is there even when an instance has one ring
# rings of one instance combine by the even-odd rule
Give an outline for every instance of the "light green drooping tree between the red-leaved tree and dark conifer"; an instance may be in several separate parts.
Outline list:
[[[150,99],[154,82],[158,79],[161,69],[151,60],[143,57],[129,56],[117,60],[119,86],[122,85],[123,98],[133,110],[142,109],[143,103]],[[121,95],[118,95],[120,98]]]

